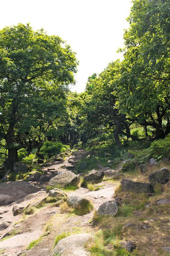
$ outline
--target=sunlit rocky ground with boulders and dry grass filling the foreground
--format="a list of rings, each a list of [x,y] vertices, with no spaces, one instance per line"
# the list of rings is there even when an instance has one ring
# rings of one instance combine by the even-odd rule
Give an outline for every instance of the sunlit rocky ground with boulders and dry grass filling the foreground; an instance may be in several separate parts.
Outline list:
[[[93,255],[169,255],[169,169],[153,172],[155,165],[150,167],[152,174],[149,176],[148,171],[123,175],[121,168],[118,173],[98,166],[98,171],[84,175],[82,184],[85,186],[77,187],[80,178],[73,172],[77,162],[88,154],[90,152],[80,149],[64,161],[54,158],[42,165],[44,174],[38,178],[32,176],[30,181],[0,184],[0,202],[6,205],[0,207],[1,255],[83,256],[89,255],[84,248],[87,244],[93,249]],[[60,185],[72,183],[62,191],[50,188],[56,179]],[[93,179],[96,184],[90,190],[86,182]],[[159,186],[154,188],[156,179]],[[156,189],[157,195],[153,196]],[[57,197],[56,194],[60,195],[57,201],[49,201]],[[64,202],[66,197],[67,203]],[[81,208],[88,202],[93,206],[89,211],[76,210],[77,205]],[[133,215],[128,211],[133,211]],[[108,232],[111,239],[115,233],[114,242],[98,240],[99,237],[96,240],[99,231],[102,231],[100,239],[105,239],[107,235],[104,234]],[[58,235],[60,239],[56,238]],[[60,241],[55,247],[56,239]],[[120,251],[120,246],[125,251]],[[117,251],[113,253],[114,250]]]

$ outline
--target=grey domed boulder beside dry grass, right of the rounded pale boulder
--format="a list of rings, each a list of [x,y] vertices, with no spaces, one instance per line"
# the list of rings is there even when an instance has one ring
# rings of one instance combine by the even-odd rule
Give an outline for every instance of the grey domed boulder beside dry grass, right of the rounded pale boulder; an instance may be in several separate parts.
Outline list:
[[[99,206],[99,209],[97,211],[97,213],[99,215],[116,215],[116,213],[118,212],[118,204],[115,200],[109,200],[103,204],[101,204],[101,206]]]

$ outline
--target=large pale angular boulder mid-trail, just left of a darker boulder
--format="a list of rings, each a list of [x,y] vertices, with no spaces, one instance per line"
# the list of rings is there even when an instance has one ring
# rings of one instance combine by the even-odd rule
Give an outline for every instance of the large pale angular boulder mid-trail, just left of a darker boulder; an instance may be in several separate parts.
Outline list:
[[[66,187],[69,185],[77,185],[80,181],[79,175],[75,175],[73,172],[66,171],[60,175],[56,175],[49,181],[49,186],[60,185]]]

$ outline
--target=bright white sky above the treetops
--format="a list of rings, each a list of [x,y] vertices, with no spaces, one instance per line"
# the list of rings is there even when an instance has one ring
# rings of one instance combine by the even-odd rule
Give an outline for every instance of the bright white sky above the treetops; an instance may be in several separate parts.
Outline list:
[[[34,30],[59,35],[77,53],[72,91],[84,91],[88,76],[99,74],[123,47],[131,0],[1,0],[0,29],[30,22]]]

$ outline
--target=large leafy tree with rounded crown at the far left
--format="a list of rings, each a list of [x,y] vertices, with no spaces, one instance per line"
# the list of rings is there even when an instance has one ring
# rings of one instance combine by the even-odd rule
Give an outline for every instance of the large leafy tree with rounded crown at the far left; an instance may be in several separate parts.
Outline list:
[[[76,66],[75,53],[59,36],[33,31],[29,24],[0,31],[0,134],[8,149],[6,170],[13,169],[16,158],[14,134],[20,110],[29,109],[34,93],[41,97],[58,85],[74,83]]]

